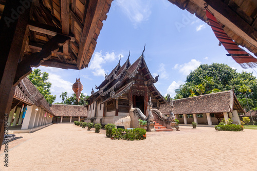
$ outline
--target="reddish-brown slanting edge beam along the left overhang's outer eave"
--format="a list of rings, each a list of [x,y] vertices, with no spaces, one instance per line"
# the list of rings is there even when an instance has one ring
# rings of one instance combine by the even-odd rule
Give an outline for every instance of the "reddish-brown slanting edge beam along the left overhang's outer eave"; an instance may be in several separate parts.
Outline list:
[[[88,65],[86,58],[88,56],[89,47],[94,37],[94,33],[96,31],[105,3],[105,0],[89,1],[84,28],[80,40],[80,51],[77,63],[79,69],[83,69],[85,65]]]

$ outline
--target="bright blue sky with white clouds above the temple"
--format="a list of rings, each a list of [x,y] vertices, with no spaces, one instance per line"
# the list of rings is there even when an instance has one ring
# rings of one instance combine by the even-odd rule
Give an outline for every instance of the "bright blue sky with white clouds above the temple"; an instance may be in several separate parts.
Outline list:
[[[160,75],[155,86],[162,95],[174,97],[174,89],[201,64],[225,63],[237,72],[244,70],[226,56],[223,46],[218,46],[210,26],[167,0],[114,0],[107,15],[88,68],[78,71],[39,67],[49,73],[51,93],[57,95],[55,102],[62,101],[62,92],[68,92],[68,96],[73,93],[72,84],[78,76],[82,93],[90,95],[120,56],[122,65],[130,51],[133,63],[142,54],[144,44],[146,65],[153,76]],[[257,75],[252,69],[244,71]]]

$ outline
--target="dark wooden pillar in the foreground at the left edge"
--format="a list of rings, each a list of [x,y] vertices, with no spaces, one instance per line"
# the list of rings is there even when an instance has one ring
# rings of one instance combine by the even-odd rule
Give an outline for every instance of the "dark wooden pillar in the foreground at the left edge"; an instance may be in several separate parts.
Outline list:
[[[21,2],[6,1],[0,20],[0,144],[4,139],[4,116],[11,110],[15,89],[13,82],[28,35],[27,24],[31,5],[26,9]]]

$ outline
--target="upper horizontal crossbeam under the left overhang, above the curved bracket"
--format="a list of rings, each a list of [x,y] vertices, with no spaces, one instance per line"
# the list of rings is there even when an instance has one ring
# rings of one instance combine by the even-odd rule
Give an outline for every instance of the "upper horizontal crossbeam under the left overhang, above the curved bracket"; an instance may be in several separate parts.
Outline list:
[[[62,33],[62,29],[59,29],[56,27],[51,27],[45,24],[36,23],[36,22],[33,22],[32,20],[29,21],[28,26],[29,26],[29,30],[31,31],[47,34],[50,36],[56,36],[57,34],[60,34],[60,35],[70,37],[70,41],[75,41],[74,35],[71,35],[71,34],[65,35]]]

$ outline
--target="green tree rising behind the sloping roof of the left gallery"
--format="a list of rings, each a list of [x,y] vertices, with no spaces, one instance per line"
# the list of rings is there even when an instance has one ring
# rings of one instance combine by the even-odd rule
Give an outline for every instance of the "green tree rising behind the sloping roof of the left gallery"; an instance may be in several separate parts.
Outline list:
[[[41,72],[40,69],[35,69],[31,74],[28,75],[29,80],[34,84],[36,89],[44,96],[49,104],[52,104],[56,100],[56,96],[51,95],[50,88],[51,82],[48,82],[48,73]]]

